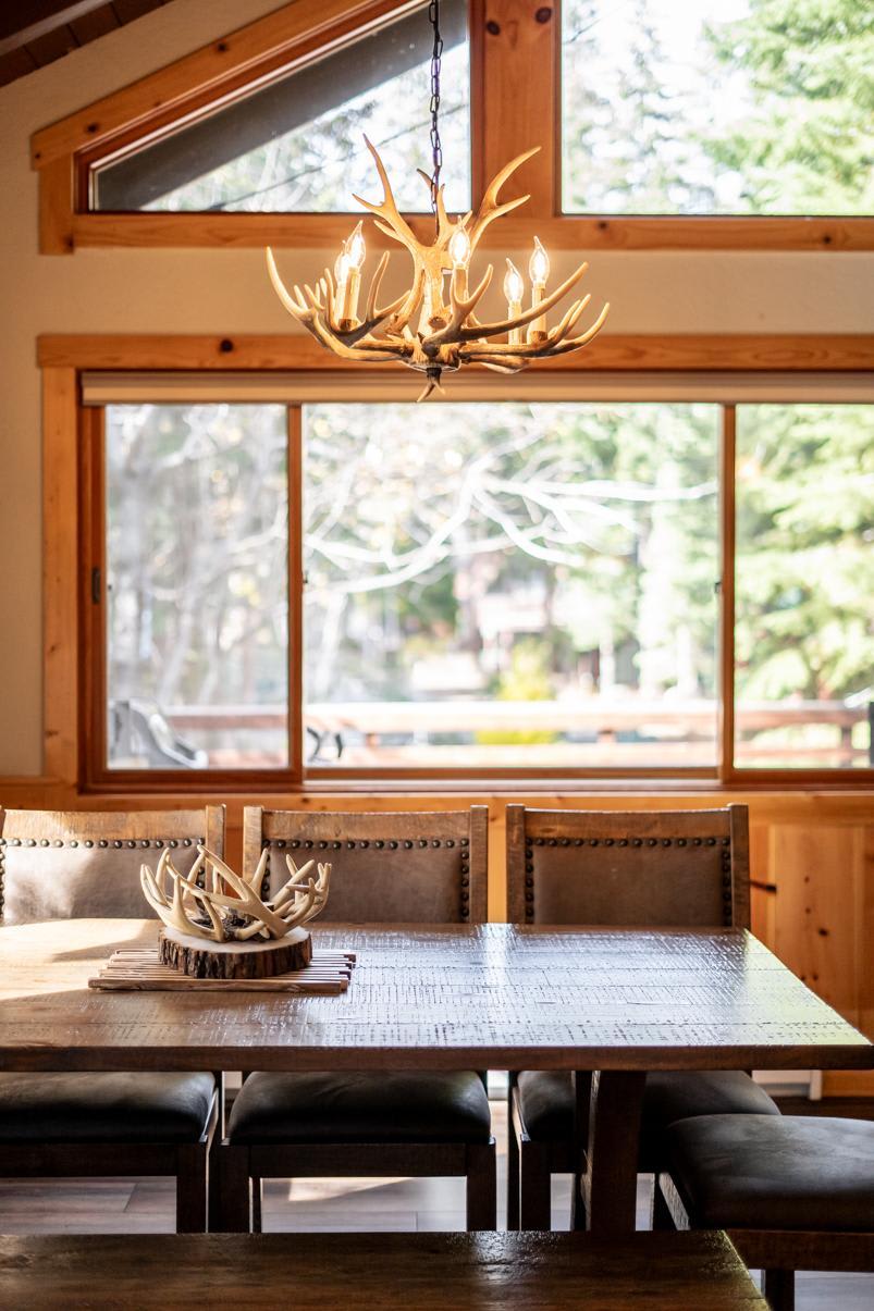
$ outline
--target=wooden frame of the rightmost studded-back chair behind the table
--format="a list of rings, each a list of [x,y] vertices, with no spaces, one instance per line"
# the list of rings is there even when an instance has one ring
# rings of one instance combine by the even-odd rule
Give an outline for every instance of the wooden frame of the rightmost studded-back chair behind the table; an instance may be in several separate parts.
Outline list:
[[[728,839],[731,872],[731,907],[726,922],[735,928],[749,928],[749,835],[748,809],[728,805],[717,810],[537,810],[524,805],[507,806],[507,903],[512,923],[535,923],[537,909],[531,888],[526,884],[526,847],[529,842],[546,846],[576,840],[619,842],[626,836],[661,843],[680,834],[694,836],[696,827],[706,826],[707,835]],[[644,857],[646,859],[646,857]],[[583,1181],[591,1076],[576,1075],[577,1138],[542,1142],[533,1139],[525,1125],[516,1072],[510,1072],[508,1091],[508,1162],[507,1224],[508,1228],[547,1230],[550,1227],[550,1181],[552,1175],[573,1175],[571,1223],[585,1227]],[[655,1190],[657,1198],[657,1189]],[[654,1205],[657,1202],[654,1201]]]

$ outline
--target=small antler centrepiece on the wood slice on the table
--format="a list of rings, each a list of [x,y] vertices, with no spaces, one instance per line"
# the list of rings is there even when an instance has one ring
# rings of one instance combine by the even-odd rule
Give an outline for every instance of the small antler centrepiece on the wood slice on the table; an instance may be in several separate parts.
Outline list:
[[[249,878],[236,874],[220,856],[206,847],[198,846],[197,851],[197,860],[188,876],[173,865],[167,848],[161,852],[155,873],[148,865],[140,868],[139,877],[146,901],[168,928],[217,943],[245,943],[253,937],[281,939],[324,910],[331,884],[331,865],[319,864],[318,878],[306,877],[303,882],[314,863],[308,860],[298,869],[286,856],[291,877],[272,901],[262,901],[260,889],[266,872],[269,848],[265,847],[262,851],[257,868]],[[202,886],[197,882],[201,872],[203,872]]]

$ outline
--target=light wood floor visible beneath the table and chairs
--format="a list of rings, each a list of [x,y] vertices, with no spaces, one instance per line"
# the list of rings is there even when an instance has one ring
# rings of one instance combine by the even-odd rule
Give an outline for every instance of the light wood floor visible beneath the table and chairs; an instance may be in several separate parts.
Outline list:
[[[492,1103],[499,1143],[497,1214],[507,1206],[507,1116]],[[1,1155],[0,1155],[0,1169]],[[650,1180],[638,1181],[638,1228],[648,1224]],[[457,1179],[268,1180],[264,1228],[458,1230],[465,1226],[463,1181]],[[172,1180],[3,1180],[0,1234],[168,1234],[173,1231]],[[570,1184],[552,1185],[552,1227],[567,1228]],[[799,1274],[797,1311],[871,1311],[874,1274]]]

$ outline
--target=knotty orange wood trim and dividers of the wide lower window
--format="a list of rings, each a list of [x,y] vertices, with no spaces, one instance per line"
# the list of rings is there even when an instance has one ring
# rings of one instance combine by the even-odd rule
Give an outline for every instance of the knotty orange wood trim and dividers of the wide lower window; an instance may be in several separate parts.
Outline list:
[[[602,347],[598,351],[598,343]],[[228,349],[230,347],[230,349]],[[592,359],[592,355],[598,354]],[[85,370],[110,368],[119,371],[165,370],[226,370],[226,371],[336,371],[336,361],[318,357],[302,337],[164,337],[164,336],[46,336],[38,340],[38,358],[43,368],[43,624],[45,624],[45,772],[50,781],[71,789],[96,793],[201,793],[203,787],[213,792],[268,794],[273,792],[336,793],[340,791],[398,792],[417,791],[423,784],[429,791],[488,791],[495,780],[501,788],[531,791],[640,791],[642,787],[676,789],[701,788],[713,792],[719,788],[741,789],[810,789],[811,785],[832,789],[870,789],[874,777],[869,771],[853,770],[739,770],[726,754],[714,768],[705,770],[538,770],[531,777],[524,771],[425,771],[407,770],[383,776],[382,771],[362,770],[308,770],[301,759],[302,746],[293,754],[290,766],[282,771],[210,771],[207,776],[181,776],[171,771],[105,771],[105,777],[94,777],[88,766],[85,742],[98,741],[98,711],[93,705],[94,642],[102,644],[102,628],[94,628],[89,616],[89,565],[96,547],[94,498],[100,497],[94,482],[93,456],[83,461],[79,451],[93,448],[93,416],[83,416],[79,396],[79,375]],[[864,371],[871,374],[874,334],[832,337],[608,337],[598,338],[587,358],[585,367],[577,362],[580,375],[592,371],[647,371],[696,372],[714,368],[718,361],[724,372],[780,371],[780,372],[840,372]],[[545,362],[562,366],[563,361]],[[549,368],[543,368],[549,371]],[[360,371],[360,370],[358,370]],[[377,371],[371,370],[374,375]],[[294,406],[291,406],[294,409]],[[732,488],[734,443],[732,417],[726,409],[722,448],[723,486]],[[92,425],[89,429],[88,425]],[[91,459],[91,463],[89,463]],[[290,628],[301,631],[302,566],[299,548],[299,520],[295,513],[299,496],[295,490],[301,480],[301,434],[297,421],[290,423],[290,556],[291,589]],[[89,514],[88,507],[92,507]],[[731,602],[732,582],[730,560],[732,551],[734,498],[731,490],[723,494],[722,551],[723,551],[723,607]],[[88,534],[87,535],[87,531]],[[98,530],[97,530],[98,531]],[[728,595],[726,595],[728,589]],[[730,617],[726,610],[726,619]],[[77,641],[77,637],[88,638]],[[727,627],[720,631],[722,692],[734,692],[732,637]],[[81,652],[80,652],[81,646]],[[301,743],[301,725],[294,722],[295,707],[302,705],[302,671],[299,644],[290,654],[290,732]],[[102,721],[101,721],[102,722]],[[722,742],[731,743],[731,724],[723,721]],[[91,779],[87,777],[91,773]]]

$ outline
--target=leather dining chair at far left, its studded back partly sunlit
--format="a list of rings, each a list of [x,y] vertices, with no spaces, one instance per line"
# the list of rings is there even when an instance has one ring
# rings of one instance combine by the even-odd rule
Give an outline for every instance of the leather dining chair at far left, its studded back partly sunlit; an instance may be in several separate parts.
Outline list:
[[[172,847],[188,869],[198,842],[223,852],[223,806],[0,810],[3,924],[146,919],[140,864]],[[203,1232],[219,1114],[220,1079],[209,1072],[0,1074],[0,1175],[175,1176],[177,1232]]]

